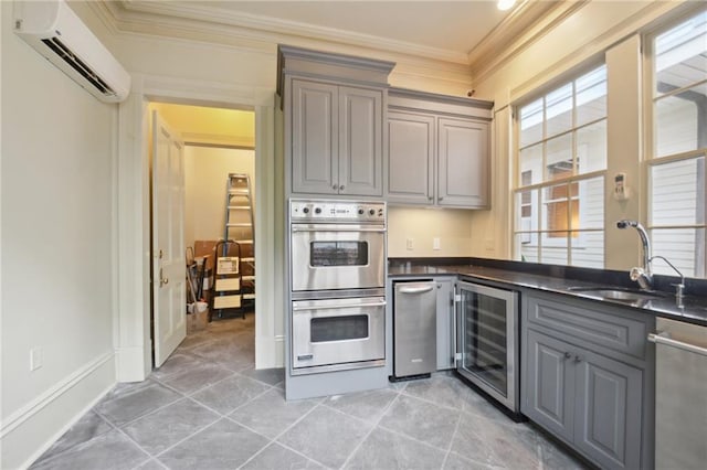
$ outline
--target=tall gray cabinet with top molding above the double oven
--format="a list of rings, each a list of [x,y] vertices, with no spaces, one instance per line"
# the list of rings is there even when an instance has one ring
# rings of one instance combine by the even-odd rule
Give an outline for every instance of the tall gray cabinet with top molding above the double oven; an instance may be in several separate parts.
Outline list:
[[[289,46],[278,52],[286,193],[382,196],[383,111],[394,64]]]

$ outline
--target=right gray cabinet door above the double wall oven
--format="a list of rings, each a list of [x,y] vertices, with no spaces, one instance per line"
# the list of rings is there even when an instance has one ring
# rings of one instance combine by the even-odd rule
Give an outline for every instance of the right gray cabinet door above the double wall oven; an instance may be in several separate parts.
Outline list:
[[[339,87],[339,193],[383,194],[383,94]]]

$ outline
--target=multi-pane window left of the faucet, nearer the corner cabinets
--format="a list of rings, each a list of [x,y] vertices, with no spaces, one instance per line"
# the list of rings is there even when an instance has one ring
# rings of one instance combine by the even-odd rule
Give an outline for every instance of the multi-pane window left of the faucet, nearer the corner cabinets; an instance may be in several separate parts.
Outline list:
[[[603,268],[606,67],[516,108],[514,258]]]

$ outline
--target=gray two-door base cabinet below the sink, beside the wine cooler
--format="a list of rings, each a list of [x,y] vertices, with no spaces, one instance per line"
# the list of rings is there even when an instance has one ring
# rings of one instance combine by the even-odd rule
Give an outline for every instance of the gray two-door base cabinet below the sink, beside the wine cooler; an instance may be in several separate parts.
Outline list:
[[[521,413],[601,468],[651,468],[653,355],[631,330],[653,320],[555,297],[524,296]]]

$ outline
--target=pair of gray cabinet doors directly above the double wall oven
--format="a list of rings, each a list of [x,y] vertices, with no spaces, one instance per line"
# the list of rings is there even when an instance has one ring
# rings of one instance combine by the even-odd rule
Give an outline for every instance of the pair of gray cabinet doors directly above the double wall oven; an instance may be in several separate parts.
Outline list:
[[[383,92],[293,79],[294,193],[382,195]]]

